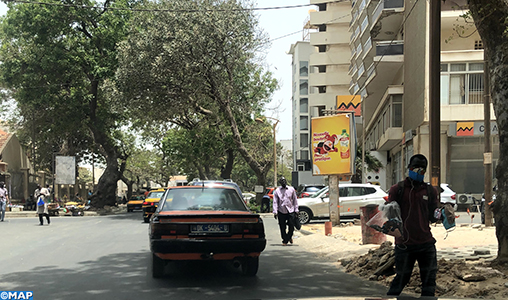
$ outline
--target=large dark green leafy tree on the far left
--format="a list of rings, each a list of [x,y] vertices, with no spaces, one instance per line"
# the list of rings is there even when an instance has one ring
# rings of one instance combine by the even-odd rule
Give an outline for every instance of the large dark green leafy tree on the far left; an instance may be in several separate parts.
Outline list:
[[[50,0],[50,3],[61,4]],[[73,4],[72,1],[66,2]],[[93,6],[95,1],[79,1]],[[0,81],[18,102],[25,136],[47,155],[97,144],[106,160],[92,205],[113,205],[125,154],[115,138],[125,125],[103,87],[113,78],[117,44],[127,34],[129,0],[106,0],[103,8],[7,2],[0,24]],[[36,134],[32,134],[32,130]],[[38,144],[36,144],[38,143]]]

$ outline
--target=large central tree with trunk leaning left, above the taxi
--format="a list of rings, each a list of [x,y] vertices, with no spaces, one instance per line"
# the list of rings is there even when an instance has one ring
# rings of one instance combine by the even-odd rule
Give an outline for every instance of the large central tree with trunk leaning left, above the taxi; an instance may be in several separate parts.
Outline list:
[[[120,47],[119,90],[129,110],[193,128],[204,116],[229,126],[235,149],[265,185],[268,161],[256,160],[242,140],[241,122],[259,115],[277,87],[256,53],[267,38],[241,1],[160,1],[166,12],[139,14]],[[147,101],[149,99],[149,101]]]

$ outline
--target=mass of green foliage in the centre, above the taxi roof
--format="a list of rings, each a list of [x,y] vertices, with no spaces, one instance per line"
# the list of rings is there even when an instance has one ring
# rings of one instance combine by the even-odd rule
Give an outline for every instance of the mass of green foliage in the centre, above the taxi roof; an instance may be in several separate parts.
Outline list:
[[[278,85],[256,57],[267,42],[256,16],[234,0],[146,8],[167,11],[136,14],[120,43],[119,105],[141,128],[169,124],[164,153],[188,175],[217,177],[234,151],[263,181],[270,152],[256,152],[256,143],[270,137],[270,127],[253,126],[252,115],[261,114]]]

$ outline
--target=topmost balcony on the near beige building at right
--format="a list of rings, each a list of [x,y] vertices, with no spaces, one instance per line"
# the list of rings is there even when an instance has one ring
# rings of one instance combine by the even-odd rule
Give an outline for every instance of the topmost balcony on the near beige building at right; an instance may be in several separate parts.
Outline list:
[[[404,18],[404,0],[379,1],[372,14],[370,34],[376,40],[392,40]]]

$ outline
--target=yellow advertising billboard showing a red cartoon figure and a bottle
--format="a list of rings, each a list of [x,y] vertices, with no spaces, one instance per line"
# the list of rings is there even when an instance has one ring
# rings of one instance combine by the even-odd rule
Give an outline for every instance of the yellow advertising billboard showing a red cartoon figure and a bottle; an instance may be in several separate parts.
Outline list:
[[[354,174],[354,113],[312,118],[313,175]]]

